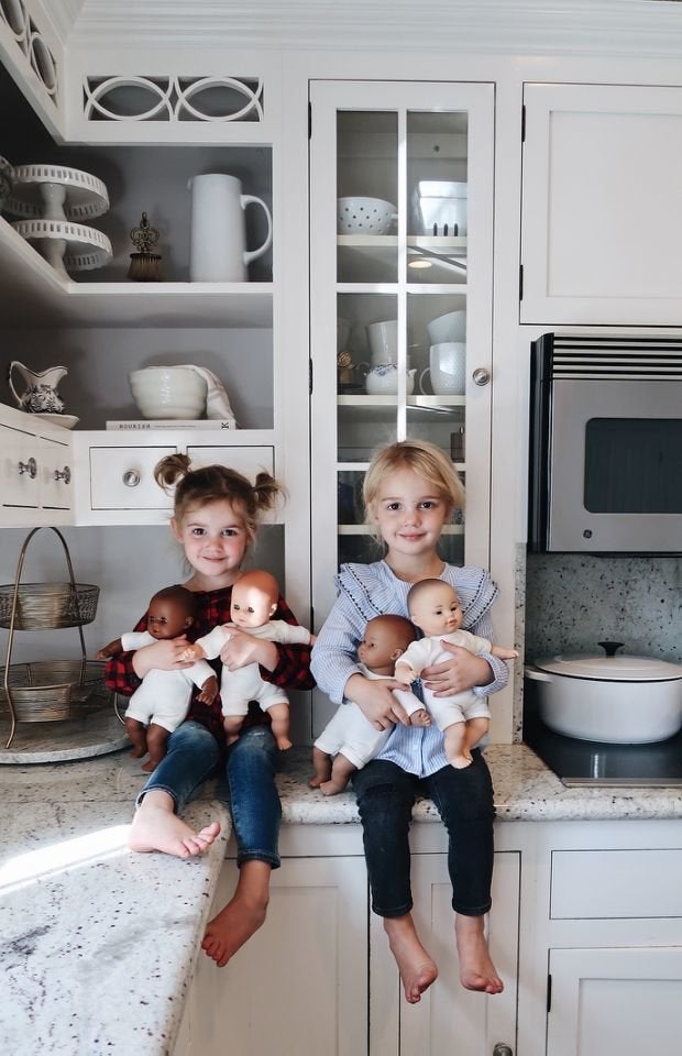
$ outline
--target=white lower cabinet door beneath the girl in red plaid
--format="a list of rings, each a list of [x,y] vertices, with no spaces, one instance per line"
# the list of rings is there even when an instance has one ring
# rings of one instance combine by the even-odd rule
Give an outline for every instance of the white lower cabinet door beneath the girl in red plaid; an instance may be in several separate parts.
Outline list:
[[[235,883],[226,862],[216,911]],[[366,1054],[364,859],[283,859],[261,931],[226,968],[199,955],[189,1018],[191,1050],[202,1056]]]

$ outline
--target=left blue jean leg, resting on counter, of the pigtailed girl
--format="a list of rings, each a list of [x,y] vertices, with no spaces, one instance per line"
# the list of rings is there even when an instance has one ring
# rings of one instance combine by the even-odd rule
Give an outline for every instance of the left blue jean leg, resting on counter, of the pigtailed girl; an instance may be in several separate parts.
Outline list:
[[[201,723],[189,721],[174,729],[167,751],[138,796],[140,806],[147,792],[167,792],[179,814],[191,793],[209,777],[220,756],[218,741]]]

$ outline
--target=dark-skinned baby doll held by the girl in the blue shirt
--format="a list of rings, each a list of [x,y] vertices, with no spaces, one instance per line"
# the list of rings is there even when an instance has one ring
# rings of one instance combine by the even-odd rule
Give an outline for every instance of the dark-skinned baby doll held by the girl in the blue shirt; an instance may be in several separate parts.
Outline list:
[[[358,646],[361,674],[367,679],[393,679],[395,662],[415,640],[415,628],[404,616],[375,616],[367,620]],[[414,693],[394,690],[413,726],[430,726],[431,719]],[[384,747],[391,727],[376,729],[351,701],[339,705],[312,746],[315,777],[308,784],[324,795],[343,792],[354,770],[361,770]],[[332,756],[334,757],[332,762]]]

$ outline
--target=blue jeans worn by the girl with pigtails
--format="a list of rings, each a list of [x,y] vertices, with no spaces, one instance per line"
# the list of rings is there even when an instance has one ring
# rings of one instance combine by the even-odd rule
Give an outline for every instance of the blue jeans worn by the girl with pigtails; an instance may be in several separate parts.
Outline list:
[[[138,796],[167,792],[179,814],[193,792],[215,772],[220,748],[200,723],[189,721],[168,737],[167,752]],[[282,804],[275,785],[278,750],[268,726],[249,726],[228,749],[226,777],[237,838],[237,864],[267,861],[277,869]]]

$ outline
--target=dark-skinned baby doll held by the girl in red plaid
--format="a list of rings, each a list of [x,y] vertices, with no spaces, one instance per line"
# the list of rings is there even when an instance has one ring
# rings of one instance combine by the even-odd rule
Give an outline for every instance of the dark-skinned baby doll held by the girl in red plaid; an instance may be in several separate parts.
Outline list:
[[[97,659],[108,660],[163,638],[178,638],[194,624],[195,606],[194,594],[184,586],[158,591],[150,602],[147,629],[121,635],[100,649]],[[189,711],[193,685],[201,690],[199,700],[206,704],[218,696],[216,672],[206,661],[175,671],[153,669],[131,696],[125,712],[125,729],[133,744],[131,756],[141,759],[147,751],[150,754],[143,770],[154,770],[165,756],[168,737]]]

